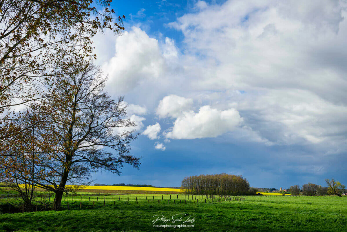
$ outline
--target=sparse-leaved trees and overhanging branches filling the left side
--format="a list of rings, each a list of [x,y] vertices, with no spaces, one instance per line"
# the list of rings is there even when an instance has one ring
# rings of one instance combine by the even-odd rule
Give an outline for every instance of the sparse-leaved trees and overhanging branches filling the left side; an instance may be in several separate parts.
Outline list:
[[[135,123],[93,65],[93,36],[124,30],[110,2],[1,1],[0,182],[27,211],[35,188],[52,192],[59,210],[67,185],[88,184],[91,172],[139,167]]]

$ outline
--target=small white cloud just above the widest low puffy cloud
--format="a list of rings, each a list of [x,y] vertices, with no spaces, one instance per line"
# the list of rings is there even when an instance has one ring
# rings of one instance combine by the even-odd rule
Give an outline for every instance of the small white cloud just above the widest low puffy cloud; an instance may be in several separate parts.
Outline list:
[[[177,95],[169,95],[159,102],[156,114],[159,118],[172,117],[176,118],[184,111],[190,110],[193,106],[193,99]]]

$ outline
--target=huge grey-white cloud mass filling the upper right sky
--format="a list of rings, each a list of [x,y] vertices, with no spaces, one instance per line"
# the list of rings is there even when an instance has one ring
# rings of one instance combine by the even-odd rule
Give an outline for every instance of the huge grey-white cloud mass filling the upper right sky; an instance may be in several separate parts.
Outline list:
[[[206,99],[215,98],[209,105],[236,108],[264,141],[342,146],[345,7],[344,1],[200,1],[195,13],[170,26],[184,34],[184,73]]]

